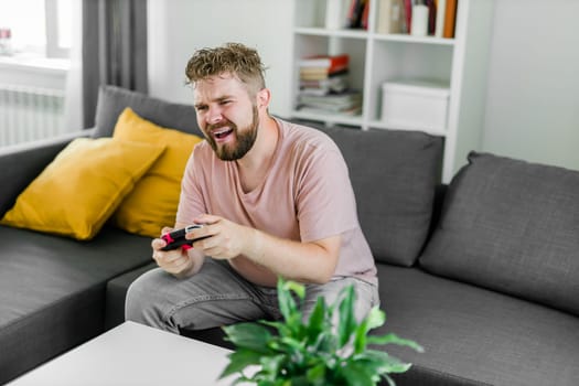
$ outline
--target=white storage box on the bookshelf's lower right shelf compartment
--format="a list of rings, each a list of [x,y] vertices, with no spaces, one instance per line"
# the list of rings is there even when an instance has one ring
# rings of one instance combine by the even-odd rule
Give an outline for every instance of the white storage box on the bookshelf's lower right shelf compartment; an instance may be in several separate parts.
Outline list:
[[[382,120],[393,129],[444,131],[448,85],[404,81],[382,85]]]

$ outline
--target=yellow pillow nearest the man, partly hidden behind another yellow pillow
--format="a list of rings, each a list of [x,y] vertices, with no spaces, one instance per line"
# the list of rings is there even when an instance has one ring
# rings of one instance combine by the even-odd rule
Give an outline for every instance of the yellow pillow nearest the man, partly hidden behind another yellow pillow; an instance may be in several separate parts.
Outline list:
[[[121,229],[158,237],[163,226],[175,223],[185,164],[195,144],[203,139],[157,126],[129,107],[119,116],[112,137],[159,143],[167,149],[112,215],[112,222]]]

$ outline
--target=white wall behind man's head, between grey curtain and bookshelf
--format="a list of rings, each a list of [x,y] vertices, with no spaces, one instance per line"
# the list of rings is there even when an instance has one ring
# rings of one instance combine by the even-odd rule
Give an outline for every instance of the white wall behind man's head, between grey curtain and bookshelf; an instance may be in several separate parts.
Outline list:
[[[292,65],[292,1],[148,0],[149,93],[192,103],[185,65],[197,49],[239,42],[258,50],[268,67],[270,112],[289,115]]]

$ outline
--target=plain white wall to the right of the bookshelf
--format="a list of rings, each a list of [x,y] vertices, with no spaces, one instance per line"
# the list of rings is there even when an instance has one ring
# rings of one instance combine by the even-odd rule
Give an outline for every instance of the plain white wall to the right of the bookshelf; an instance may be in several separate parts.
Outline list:
[[[483,150],[579,170],[579,1],[500,0]]]

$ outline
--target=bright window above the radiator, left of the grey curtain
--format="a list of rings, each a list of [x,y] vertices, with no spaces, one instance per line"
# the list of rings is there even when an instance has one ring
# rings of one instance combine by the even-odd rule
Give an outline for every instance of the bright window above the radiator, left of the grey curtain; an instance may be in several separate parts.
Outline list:
[[[68,57],[73,0],[0,0],[0,55]]]

